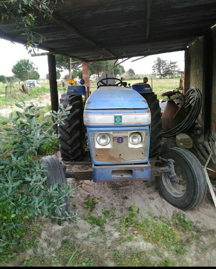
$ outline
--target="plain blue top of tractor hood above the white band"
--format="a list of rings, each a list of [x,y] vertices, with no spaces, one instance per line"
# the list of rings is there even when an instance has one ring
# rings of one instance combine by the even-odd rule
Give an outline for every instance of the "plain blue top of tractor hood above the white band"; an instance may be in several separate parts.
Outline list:
[[[102,86],[86,100],[85,109],[147,109],[146,100],[130,88]]]

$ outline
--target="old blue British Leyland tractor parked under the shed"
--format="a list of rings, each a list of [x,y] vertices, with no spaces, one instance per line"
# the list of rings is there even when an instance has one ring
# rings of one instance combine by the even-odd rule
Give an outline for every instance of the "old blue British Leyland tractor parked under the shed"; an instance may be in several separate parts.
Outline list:
[[[55,156],[43,158],[48,165],[47,184],[66,183],[66,177],[94,182],[149,181],[156,177],[161,196],[170,204],[182,210],[199,205],[207,189],[203,168],[182,148],[160,152],[161,109],[147,78],[127,87],[109,72],[103,76],[89,97],[84,85],[69,85],[67,93],[61,95],[60,106],[72,108],[64,125],[58,126],[63,161]],[[87,141],[90,161],[86,159]],[[92,171],[68,172],[65,163],[92,163]],[[68,201],[66,204],[68,210]]]

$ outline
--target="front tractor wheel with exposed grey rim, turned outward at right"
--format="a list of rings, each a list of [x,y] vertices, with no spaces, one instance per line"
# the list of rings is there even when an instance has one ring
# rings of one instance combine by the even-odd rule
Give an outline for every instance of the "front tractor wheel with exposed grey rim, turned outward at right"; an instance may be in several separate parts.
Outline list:
[[[199,205],[205,198],[207,183],[199,160],[182,148],[169,148],[160,154],[164,159],[173,159],[176,178],[170,179],[168,173],[156,177],[161,196],[171,205],[187,210]],[[166,162],[160,166],[166,166]]]

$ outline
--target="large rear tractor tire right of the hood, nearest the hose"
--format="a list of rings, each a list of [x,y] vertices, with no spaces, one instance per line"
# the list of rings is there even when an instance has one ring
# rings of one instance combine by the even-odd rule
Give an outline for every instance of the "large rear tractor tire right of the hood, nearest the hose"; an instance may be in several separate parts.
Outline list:
[[[151,134],[150,134],[150,148],[149,157],[158,156],[161,151],[161,139],[162,139],[162,120],[161,120],[161,108],[159,106],[159,100],[157,94],[143,93],[141,94],[149,105],[151,111]]]

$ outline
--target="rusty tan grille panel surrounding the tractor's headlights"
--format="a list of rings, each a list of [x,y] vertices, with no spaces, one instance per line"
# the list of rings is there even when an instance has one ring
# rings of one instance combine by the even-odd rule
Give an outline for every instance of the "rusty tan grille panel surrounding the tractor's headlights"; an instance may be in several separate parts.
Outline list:
[[[136,130],[139,132],[139,130]],[[140,130],[143,131],[143,130]],[[97,132],[98,133],[98,132]],[[101,162],[122,162],[131,160],[145,160],[148,148],[148,136],[144,138],[144,147],[128,148],[128,131],[113,131],[113,148],[95,148],[94,136],[95,132],[91,133],[91,145],[93,159]],[[116,139],[122,136],[124,142],[118,144]]]

